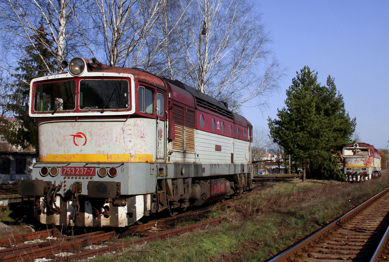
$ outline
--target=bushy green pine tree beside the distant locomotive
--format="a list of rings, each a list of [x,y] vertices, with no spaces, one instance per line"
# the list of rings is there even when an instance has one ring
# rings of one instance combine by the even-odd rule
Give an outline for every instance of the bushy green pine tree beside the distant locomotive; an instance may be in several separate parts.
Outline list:
[[[285,154],[301,161],[303,181],[306,165],[320,177],[342,179],[331,149],[340,149],[350,141],[355,118],[345,113],[343,97],[337,93],[334,79],[327,86],[317,83],[317,72],[305,66],[293,78],[286,91],[286,107],[278,111],[279,119],[269,118],[270,135]]]

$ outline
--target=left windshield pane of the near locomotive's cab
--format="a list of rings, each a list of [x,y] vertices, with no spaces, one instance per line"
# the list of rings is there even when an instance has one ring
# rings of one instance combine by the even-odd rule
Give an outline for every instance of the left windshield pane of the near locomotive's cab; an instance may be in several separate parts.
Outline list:
[[[35,112],[74,110],[75,81],[65,81],[35,86]]]

